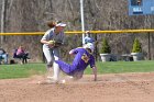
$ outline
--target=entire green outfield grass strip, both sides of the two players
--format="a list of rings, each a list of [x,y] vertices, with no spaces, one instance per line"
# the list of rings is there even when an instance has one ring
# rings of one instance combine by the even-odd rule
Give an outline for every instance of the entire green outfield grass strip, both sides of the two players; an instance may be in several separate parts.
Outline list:
[[[154,71],[154,60],[151,61],[110,61],[97,63],[98,73],[123,73],[123,72],[151,72]],[[46,72],[45,64],[26,65],[0,65],[0,79],[26,78],[33,75]],[[86,75],[92,73],[90,68]]]

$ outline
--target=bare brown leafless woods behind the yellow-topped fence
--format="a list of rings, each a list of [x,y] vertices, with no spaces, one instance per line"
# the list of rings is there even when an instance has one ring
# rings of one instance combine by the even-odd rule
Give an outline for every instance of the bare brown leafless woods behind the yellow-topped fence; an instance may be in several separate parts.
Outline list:
[[[81,30],[79,10],[79,0],[0,0],[1,32],[46,31],[48,29],[46,21],[48,20],[62,20],[67,23],[66,31],[79,31]],[[154,27],[154,16],[152,15],[129,16],[128,0],[84,0],[84,10],[86,30]],[[40,44],[42,35],[4,37],[7,44],[3,43],[3,36],[0,37],[0,43],[3,43],[1,45],[6,45],[6,49],[8,50],[11,50],[19,44],[24,44],[30,49],[30,53],[42,53]],[[94,35],[94,37],[99,39],[107,37],[114,54],[130,53],[133,39],[139,37],[143,45],[143,50],[145,54],[147,53],[147,34],[98,34]],[[67,35],[67,38],[68,46],[64,48],[64,53],[79,46],[81,43],[81,35]],[[152,36],[152,43],[153,41],[154,37]],[[31,43],[28,44],[28,42]],[[101,42],[98,44],[99,47],[101,47]],[[152,50],[154,50],[153,47]],[[36,55],[33,56],[35,58],[40,57]],[[152,56],[154,57],[154,55]]]

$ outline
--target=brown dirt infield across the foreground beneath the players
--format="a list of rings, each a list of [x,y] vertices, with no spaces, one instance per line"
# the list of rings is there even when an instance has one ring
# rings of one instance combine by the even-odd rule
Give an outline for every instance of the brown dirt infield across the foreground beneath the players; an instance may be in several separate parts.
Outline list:
[[[43,78],[0,80],[0,102],[154,102],[154,72],[84,76],[77,82],[36,84]]]

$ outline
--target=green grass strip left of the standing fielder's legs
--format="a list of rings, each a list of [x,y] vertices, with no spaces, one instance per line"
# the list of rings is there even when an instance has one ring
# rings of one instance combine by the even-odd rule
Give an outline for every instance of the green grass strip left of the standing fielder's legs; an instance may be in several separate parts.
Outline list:
[[[45,64],[0,65],[0,79],[26,78],[45,71]]]

